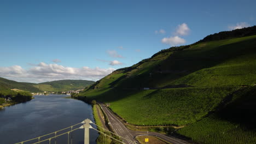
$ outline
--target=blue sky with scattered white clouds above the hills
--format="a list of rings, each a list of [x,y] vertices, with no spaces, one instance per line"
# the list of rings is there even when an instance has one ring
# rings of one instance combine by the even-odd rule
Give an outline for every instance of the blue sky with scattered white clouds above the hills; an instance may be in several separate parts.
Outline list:
[[[256,1],[0,1],[0,77],[98,80],[161,49],[256,25]]]

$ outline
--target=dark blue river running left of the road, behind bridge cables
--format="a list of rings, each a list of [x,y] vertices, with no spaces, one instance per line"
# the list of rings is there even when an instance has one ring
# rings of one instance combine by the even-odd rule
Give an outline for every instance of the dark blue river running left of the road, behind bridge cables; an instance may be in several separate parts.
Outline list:
[[[80,123],[86,118],[94,122],[91,105],[83,101],[67,99],[66,96],[35,95],[34,99],[26,103],[4,107],[0,110],[0,143],[9,144],[32,139]],[[80,124],[74,128],[78,127]],[[90,143],[96,143],[97,136],[97,132],[90,129]],[[84,129],[73,131],[69,137],[67,134],[60,136],[51,140],[51,143],[64,144],[68,139],[72,144],[84,143]],[[33,142],[37,140],[26,143]],[[49,141],[40,144],[44,143]]]

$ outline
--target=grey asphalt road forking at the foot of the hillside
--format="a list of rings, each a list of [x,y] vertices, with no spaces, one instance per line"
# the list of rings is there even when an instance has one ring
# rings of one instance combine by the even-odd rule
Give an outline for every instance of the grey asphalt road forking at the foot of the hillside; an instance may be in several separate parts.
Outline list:
[[[117,118],[103,103],[98,103],[102,107],[102,110],[104,113],[106,113],[106,116],[108,118],[108,121],[110,122],[110,126],[114,129],[114,132],[125,139],[123,141],[125,143],[138,143],[137,140],[135,140],[135,137],[138,135],[153,135],[156,137],[159,137],[160,139],[163,139],[165,141],[171,142],[173,144],[188,144],[188,142],[177,139],[176,137],[170,137],[159,133],[153,133],[153,132],[145,132],[145,131],[133,131],[130,129],[127,129],[123,122],[120,121],[120,119]]]

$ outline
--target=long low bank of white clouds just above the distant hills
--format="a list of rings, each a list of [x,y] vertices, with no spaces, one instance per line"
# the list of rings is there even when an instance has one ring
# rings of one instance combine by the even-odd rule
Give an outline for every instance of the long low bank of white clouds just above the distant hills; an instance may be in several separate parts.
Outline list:
[[[45,82],[64,79],[99,80],[112,73],[114,68],[73,68],[59,64],[39,63],[26,70],[19,65],[0,67],[0,77],[22,82]]]

